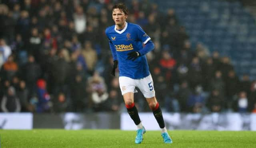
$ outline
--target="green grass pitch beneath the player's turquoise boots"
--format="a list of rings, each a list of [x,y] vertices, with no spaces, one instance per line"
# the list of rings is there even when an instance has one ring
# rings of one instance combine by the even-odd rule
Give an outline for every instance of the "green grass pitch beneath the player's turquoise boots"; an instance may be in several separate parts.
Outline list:
[[[252,131],[168,131],[173,144],[164,144],[160,131],[146,131],[135,144],[136,131],[122,130],[0,130],[1,148],[256,148]]]

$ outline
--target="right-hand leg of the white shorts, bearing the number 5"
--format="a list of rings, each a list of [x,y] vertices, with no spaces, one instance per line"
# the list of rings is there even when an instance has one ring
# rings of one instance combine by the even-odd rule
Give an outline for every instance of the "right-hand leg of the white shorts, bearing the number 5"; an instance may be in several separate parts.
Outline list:
[[[136,80],[137,87],[143,93],[145,98],[152,98],[155,96],[154,83],[151,74],[143,79]]]

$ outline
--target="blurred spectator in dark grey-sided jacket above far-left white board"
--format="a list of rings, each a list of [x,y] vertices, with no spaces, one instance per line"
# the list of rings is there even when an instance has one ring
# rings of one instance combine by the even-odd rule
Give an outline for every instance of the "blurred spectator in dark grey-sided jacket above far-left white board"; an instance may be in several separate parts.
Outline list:
[[[20,101],[15,88],[10,86],[7,94],[2,98],[1,109],[3,112],[20,112],[20,108]]]

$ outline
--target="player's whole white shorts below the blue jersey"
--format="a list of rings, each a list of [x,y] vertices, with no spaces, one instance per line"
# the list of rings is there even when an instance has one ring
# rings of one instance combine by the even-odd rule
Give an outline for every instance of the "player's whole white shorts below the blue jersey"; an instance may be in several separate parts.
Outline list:
[[[137,87],[143,93],[144,97],[151,98],[155,96],[155,90],[151,74],[142,79],[132,79],[126,76],[120,76],[119,86],[122,95],[128,92],[137,93],[138,91],[135,89],[135,87]]]

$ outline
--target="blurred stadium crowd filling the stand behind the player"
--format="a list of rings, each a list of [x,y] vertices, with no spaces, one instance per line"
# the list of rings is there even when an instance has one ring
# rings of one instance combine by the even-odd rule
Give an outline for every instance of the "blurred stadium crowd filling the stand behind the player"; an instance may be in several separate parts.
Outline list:
[[[2,112],[123,111],[105,29],[116,0],[2,0]],[[126,0],[118,1],[126,2]],[[175,9],[132,0],[128,22],[154,42],[148,53],[156,97],[164,111],[256,113],[256,81],[238,78],[230,58],[198,41],[192,49]],[[210,48],[210,47],[209,47]],[[150,111],[141,93],[140,111]]]

